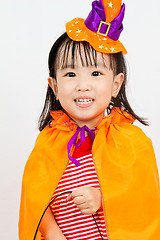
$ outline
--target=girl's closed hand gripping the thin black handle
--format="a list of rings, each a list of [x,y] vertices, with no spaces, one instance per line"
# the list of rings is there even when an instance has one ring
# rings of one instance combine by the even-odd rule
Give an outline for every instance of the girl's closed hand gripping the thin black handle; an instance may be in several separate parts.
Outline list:
[[[94,214],[101,208],[101,192],[97,188],[77,188],[67,197],[68,201],[71,199],[85,215]]]

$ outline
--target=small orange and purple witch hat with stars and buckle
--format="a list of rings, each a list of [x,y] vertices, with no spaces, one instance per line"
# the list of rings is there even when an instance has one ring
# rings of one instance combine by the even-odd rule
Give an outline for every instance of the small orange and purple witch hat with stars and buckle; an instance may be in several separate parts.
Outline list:
[[[66,24],[66,32],[74,41],[87,41],[103,53],[127,51],[118,40],[123,30],[125,4],[122,0],[99,0],[92,3],[87,19],[74,18]]]

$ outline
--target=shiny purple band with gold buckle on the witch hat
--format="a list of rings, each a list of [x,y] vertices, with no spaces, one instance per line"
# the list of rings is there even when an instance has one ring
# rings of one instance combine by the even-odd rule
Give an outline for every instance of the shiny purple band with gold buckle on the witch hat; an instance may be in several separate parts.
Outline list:
[[[117,41],[123,30],[123,18],[125,13],[125,4],[122,5],[120,14],[110,23],[105,22],[105,9],[102,0],[92,3],[92,10],[85,20],[85,25],[91,31],[100,35],[108,36]]]

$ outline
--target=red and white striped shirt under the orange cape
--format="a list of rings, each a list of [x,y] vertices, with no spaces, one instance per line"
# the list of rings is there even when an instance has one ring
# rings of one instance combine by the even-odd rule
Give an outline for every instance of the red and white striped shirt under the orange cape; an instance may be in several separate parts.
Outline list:
[[[86,137],[85,142],[74,150],[73,157],[81,164],[76,167],[69,161],[64,171],[52,199],[62,192],[73,191],[80,187],[94,187],[100,189],[98,177],[91,154],[92,140]],[[58,197],[50,206],[57,224],[62,230],[67,240],[101,240],[100,233],[92,215],[84,215],[74,204],[73,200],[67,201],[69,193]],[[51,199],[51,200],[52,200]],[[98,210],[94,217],[98,224],[103,239],[107,238],[104,215],[102,210]],[[44,239],[42,237],[42,239]]]

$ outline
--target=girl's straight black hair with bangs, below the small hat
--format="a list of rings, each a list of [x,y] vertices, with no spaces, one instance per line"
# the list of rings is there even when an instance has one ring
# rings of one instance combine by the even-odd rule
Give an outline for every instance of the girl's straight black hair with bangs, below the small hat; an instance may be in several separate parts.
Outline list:
[[[60,52],[63,50],[63,57],[59,58]],[[82,57],[82,51],[84,52],[84,56]],[[85,41],[77,42],[71,40],[67,33],[62,34],[54,43],[49,53],[48,66],[49,66],[49,75],[56,79],[56,71],[58,68],[64,68],[67,66],[68,55],[72,54],[71,66],[74,68],[75,59],[77,57],[77,53],[80,55],[82,65],[97,65],[97,51]],[[121,89],[116,98],[111,99],[109,106],[107,107],[107,113],[110,114],[113,107],[122,108],[129,114],[131,114],[135,119],[141,122],[144,125],[148,125],[148,123],[144,120],[144,118],[139,117],[131,108],[127,96],[126,96],[126,83],[127,83],[127,68],[126,62],[124,59],[124,55],[122,52],[109,54],[110,57],[110,68],[113,70],[114,75],[118,75],[119,73],[124,74],[124,81],[122,83]],[[102,59],[103,53],[102,53]],[[105,63],[104,63],[105,64]],[[39,118],[39,130],[42,131],[47,125],[49,125],[52,121],[52,117],[50,115],[50,111],[53,110],[63,110],[60,102],[56,99],[56,96],[52,90],[52,88],[48,84],[46,100],[44,104],[44,108]]]

